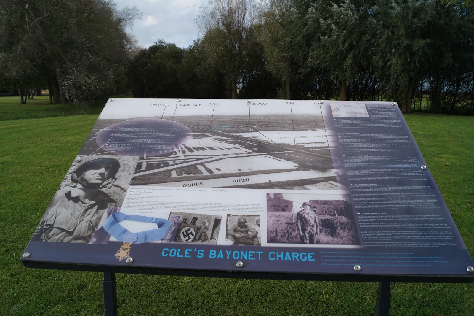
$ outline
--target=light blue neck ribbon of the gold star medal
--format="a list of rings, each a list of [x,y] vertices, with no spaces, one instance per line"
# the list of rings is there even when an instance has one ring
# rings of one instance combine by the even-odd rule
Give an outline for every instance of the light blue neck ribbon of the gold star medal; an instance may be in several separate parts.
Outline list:
[[[158,229],[152,229],[144,232],[129,232],[119,223],[122,221],[134,221],[142,223],[155,223]],[[140,215],[128,215],[125,213],[112,213],[104,223],[104,229],[118,241],[127,243],[144,243],[162,240],[170,230],[171,222],[162,218],[147,217]]]

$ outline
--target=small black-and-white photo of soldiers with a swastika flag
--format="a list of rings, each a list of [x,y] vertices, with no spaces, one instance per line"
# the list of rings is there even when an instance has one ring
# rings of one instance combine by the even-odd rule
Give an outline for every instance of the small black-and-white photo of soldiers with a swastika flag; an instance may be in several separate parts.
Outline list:
[[[199,242],[216,244],[221,216],[171,212],[171,228],[162,242]]]

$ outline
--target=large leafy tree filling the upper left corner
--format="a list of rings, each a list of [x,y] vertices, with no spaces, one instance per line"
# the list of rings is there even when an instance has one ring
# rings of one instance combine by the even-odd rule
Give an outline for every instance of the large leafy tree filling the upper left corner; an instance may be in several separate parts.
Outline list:
[[[136,8],[118,10],[108,0],[4,2],[0,69],[12,84],[41,78],[63,103],[66,93],[86,101],[113,89],[133,43],[126,28],[141,15]]]

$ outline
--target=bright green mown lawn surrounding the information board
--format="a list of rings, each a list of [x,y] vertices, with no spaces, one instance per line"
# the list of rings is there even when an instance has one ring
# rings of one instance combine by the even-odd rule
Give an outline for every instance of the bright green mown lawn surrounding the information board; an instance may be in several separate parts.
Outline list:
[[[38,105],[42,106],[42,105]],[[47,104],[46,104],[47,106]],[[474,117],[405,116],[474,254]],[[19,258],[97,115],[0,121],[0,315],[103,315],[102,274]],[[119,315],[373,315],[376,283],[117,274]],[[392,316],[474,315],[473,284],[393,283]]]

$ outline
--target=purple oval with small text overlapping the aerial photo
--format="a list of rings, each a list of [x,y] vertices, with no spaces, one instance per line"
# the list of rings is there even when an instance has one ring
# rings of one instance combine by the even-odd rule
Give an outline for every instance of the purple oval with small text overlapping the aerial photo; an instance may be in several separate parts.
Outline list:
[[[121,156],[159,156],[179,149],[192,131],[186,125],[164,119],[135,119],[109,125],[97,134],[101,149]]]

